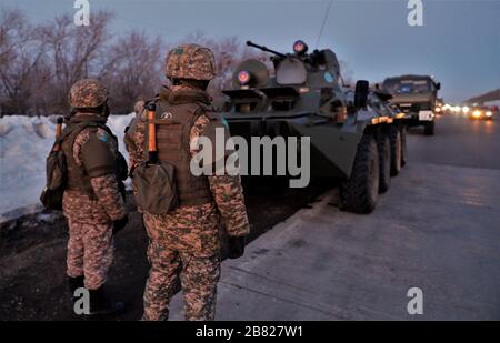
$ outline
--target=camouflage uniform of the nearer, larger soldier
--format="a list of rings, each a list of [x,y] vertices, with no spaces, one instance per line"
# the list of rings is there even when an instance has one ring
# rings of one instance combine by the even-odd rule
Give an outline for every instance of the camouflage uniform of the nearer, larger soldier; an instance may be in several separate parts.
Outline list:
[[[177,49],[186,51],[189,48]],[[181,56],[180,59],[182,58]],[[163,88],[162,92],[186,90],[189,90],[186,85],[174,85],[171,89]],[[138,113],[131,123],[131,130],[126,134],[132,168],[144,160],[144,118],[143,110]],[[201,114],[191,128],[191,155],[198,152],[193,143],[208,123],[209,118]],[[217,282],[220,276],[219,228],[222,223],[229,235],[243,236],[249,233],[249,223],[239,176],[213,175],[208,176],[208,181],[212,194],[212,201],[208,203],[181,204],[167,214],[143,212],[150,240],[148,259],[151,263],[144,290],[143,320],[168,319],[168,305],[178,278],[183,290],[186,319],[214,319]]]

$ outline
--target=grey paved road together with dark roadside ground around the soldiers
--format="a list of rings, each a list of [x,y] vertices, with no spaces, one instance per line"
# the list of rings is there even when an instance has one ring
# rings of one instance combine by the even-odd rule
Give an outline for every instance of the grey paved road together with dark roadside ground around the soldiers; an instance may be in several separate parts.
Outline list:
[[[217,317],[499,320],[499,124],[450,117],[439,119],[436,137],[410,132],[409,163],[370,215],[340,212],[336,190],[323,183],[247,192],[252,238],[261,235],[244,258],[223,262]],[[319,202],[290,216],[323,188],[330,191]],[[130,309],[120,319],[142,312],[148,266],[139,221],[132,215],[117,238],[109,278]],[[62,220],[33,216],[21,226],[0,240],[0,319],[77,319],[66,293]],[[422,316],[407,313],[412,286],[423,291]],[[171,313],[182,319],[180,295]]]

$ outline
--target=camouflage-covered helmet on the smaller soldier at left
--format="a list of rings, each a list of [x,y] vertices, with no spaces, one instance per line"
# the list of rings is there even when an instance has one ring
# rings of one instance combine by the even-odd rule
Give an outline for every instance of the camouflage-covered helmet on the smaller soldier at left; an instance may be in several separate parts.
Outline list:
[[[72,108],[99,108],[108,101],[108,90],[94,79],[82,79],[71,87],[69,102]]]

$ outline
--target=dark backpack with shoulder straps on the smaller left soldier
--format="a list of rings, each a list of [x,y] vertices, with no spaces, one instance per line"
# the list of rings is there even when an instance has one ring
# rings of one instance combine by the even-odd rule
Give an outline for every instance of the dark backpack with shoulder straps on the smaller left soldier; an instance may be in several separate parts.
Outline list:
[[[64,128],[60,137],[56,139],[56,142],[53,143],[52,149],[47,157],[47,182],[40,195],[40,201],[46,209],[62,210],[62,196],[64,194],[68,181],[68,163],[66,160],[66,154],[61,149],[62,142],[66,139],[72,139],[72,141],[74,141],[74,138],[83,129],[89,127],[99,127],[113,135],[108,127],[94,122],[82,122],[74,125],[67,125]],[[128,167],[123,155],[119,152],[117,154],[116,167],[118,186],[124,198],[123,181],[128,176]]]

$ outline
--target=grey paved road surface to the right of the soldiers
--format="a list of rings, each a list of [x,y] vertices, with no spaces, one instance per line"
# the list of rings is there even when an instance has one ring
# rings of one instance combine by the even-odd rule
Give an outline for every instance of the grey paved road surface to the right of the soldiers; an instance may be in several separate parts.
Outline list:
[[[323,195],[226,261],[219,320],[500,320],[499,122],[441,118],[374,213]],[[409,315],[407,292],[423,292]],[[181,300],[172,304],[182,319]]]

